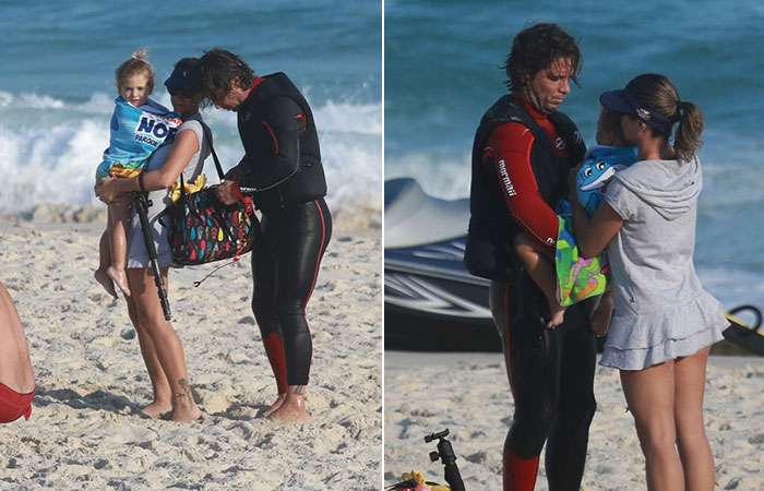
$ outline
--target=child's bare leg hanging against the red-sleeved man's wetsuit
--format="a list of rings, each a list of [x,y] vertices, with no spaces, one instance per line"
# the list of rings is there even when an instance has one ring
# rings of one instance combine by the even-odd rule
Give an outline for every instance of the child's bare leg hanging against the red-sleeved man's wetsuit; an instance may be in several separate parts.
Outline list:
[[[557,300],[557,272],[553,259],[548,258],[546,251],[525,233],[518,233],[515,238],[515,253],[533,280],[547,297],[551,314],[547,328],[562,324],[566,308]]]

